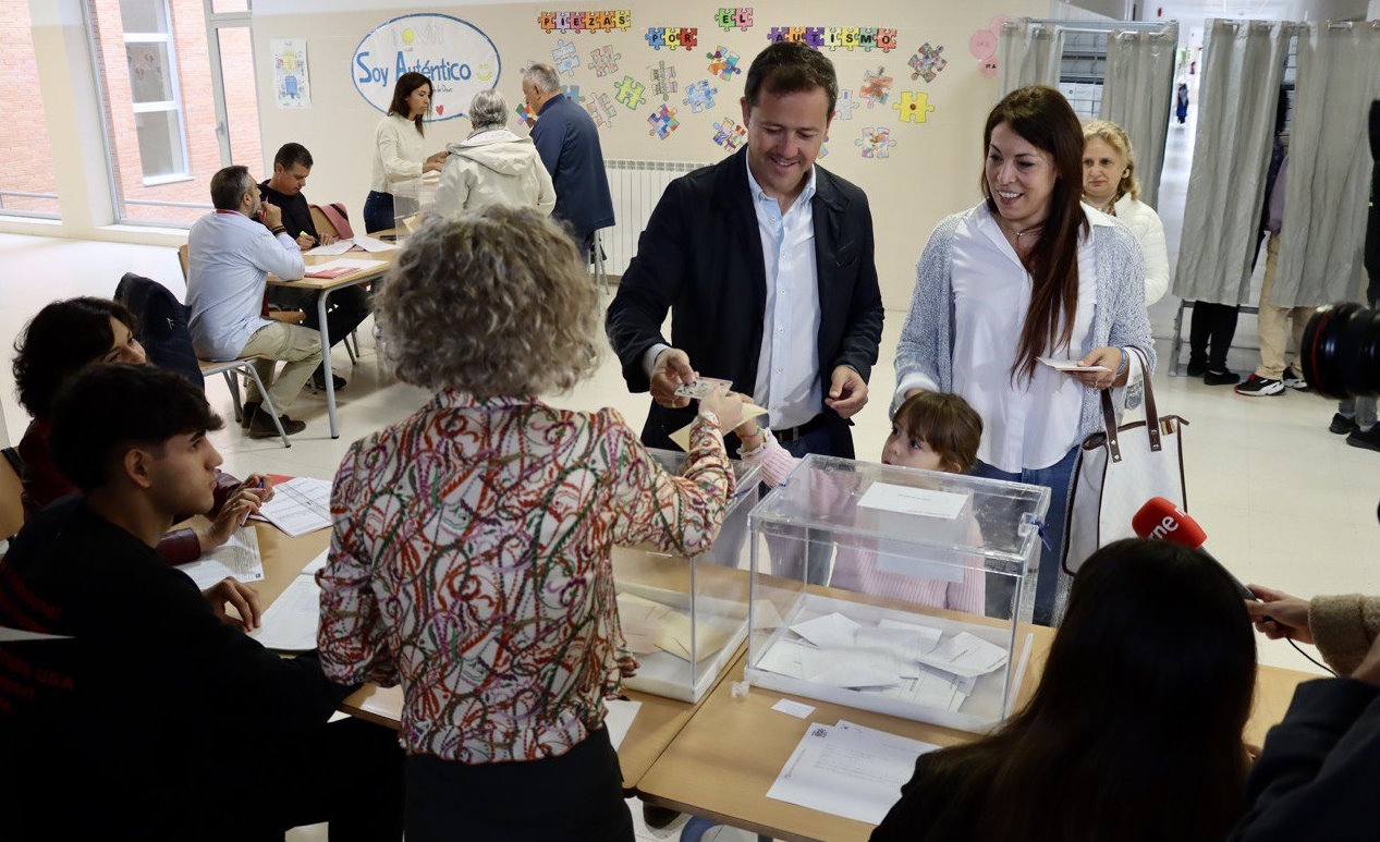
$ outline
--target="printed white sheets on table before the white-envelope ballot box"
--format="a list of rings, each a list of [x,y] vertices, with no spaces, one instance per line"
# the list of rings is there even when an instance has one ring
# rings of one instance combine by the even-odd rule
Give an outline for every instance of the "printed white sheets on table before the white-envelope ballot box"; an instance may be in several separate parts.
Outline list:
[[[811,722],[767,798],[879,824],[901,798],[915,758],[936,748],[843,719]]]

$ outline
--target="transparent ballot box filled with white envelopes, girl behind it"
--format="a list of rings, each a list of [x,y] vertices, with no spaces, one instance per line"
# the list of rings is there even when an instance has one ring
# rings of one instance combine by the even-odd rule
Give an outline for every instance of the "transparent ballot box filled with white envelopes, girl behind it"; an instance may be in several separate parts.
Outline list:
[[[1010,712],[1049,489],[806,457],[749,516],[748,681],[984,730]]]

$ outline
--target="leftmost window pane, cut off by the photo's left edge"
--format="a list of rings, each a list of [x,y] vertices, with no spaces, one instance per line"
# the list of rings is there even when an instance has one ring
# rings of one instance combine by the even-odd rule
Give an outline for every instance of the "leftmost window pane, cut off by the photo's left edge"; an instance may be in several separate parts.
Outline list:
[[[58,185],[29,3],[0,1],[0,214],[57,218]]]

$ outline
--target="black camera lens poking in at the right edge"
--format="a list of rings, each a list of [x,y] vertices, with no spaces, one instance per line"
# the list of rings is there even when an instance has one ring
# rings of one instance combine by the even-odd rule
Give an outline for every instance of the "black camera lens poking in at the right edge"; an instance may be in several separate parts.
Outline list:
[[[1299,348],[1303,377],[1328,398],[1380,395],[1380,312],[1359,304],[1318,308]]]

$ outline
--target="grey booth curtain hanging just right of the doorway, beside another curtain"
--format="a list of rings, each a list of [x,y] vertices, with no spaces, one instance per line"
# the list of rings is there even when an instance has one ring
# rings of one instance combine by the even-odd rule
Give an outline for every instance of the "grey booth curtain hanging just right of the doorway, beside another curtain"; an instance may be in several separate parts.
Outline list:
[[[1256,248],[1275,102],[1293,23],[1212,21],[1198,87],[1198,133],[1188,174],[1174,295],[1254,305]]]

